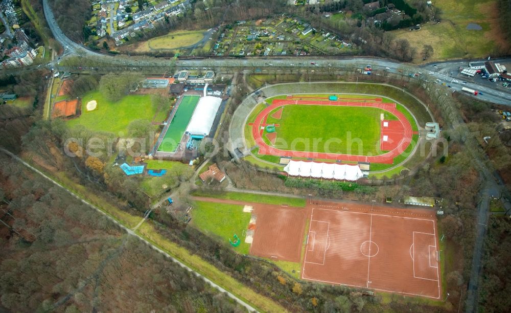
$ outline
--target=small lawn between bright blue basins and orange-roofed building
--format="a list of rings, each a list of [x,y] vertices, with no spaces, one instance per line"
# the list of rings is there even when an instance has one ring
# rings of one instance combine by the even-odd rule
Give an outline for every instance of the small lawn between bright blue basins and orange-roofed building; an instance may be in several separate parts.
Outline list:
[[[155,197],[165,192],[169,188],[173,188],[178,183],[178,176],[190,178],[193,169],[181,162],[146,160],[148,169],[166,169],[167,173],[161,177],[144,176],[141,188],[150,197]],[[166,187],[164,187],[166,185]]]

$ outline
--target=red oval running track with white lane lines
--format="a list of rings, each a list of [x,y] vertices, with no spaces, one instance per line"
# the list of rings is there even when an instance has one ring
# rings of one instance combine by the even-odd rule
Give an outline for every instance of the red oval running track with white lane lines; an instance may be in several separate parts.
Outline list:
[[[337,105],[337,106],[365,106],[381,108],[396,116],[403,125],[403,138],[400,140],[396,148],[380,155],[366,156],[354,154],[341,154],[341,153],[325,153],[325,152],[307,152],[307,151],[293,151],[281,150],[270,147],[266,144],[260,132],[260,126],[263,121],[266,121],[268,114],[279,106],[290,104],[299,105]],[[259,145],[259,154],[265,155],[278,155],[281,157],[295,157],[295,158],[312,158],[312,159],[327,159],[327,160],[342,160],[342,161],[355,161],[355,162],[371,162],[371,163],[386,163],[392,164],[393,159],[403,153],[412,140],[412,127],[410,122],[406,119],[403,113],[397,108],[395,103],[376,103],[376,102],[344,102],[344,101],[313,101],[313,100],[285,100],[276,99],[273,103],[261,111],[255,118],[252,125],[252,136],[255,143]]]

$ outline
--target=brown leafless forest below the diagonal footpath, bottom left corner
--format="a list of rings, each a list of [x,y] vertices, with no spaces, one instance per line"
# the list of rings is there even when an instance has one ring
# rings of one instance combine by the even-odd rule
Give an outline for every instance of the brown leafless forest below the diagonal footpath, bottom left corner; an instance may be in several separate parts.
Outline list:
[[[0,186],[0,310],[245,311],[3,153]]]

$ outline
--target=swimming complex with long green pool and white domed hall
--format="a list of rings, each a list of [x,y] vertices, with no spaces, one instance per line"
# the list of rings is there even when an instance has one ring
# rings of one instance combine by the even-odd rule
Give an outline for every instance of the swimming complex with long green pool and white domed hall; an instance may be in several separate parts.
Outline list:
[[[183,95],[178,99],[153,148],[154,157],[191,158],[204,138],[213,137],[222,98],[206,96],[206,87],[203,96]]]

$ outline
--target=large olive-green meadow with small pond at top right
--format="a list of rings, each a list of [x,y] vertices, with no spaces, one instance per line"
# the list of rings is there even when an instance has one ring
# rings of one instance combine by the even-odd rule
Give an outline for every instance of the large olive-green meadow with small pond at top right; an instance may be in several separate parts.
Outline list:
[[[486,57],[499,45],[509,46],[499,34],[494,17],[495,4],[494,0],[434,0],[433,6],[442,10],[441,23],[422,25],[421,30],[401,29],[392,33],[397,39],[407,39],[417,50],[415,62],[422,62],[424,44],[431,44],[434,49],[428,62]],[[482,29],[467,29],[469,23],[477,24]]]

